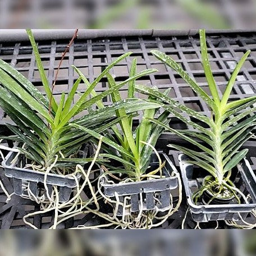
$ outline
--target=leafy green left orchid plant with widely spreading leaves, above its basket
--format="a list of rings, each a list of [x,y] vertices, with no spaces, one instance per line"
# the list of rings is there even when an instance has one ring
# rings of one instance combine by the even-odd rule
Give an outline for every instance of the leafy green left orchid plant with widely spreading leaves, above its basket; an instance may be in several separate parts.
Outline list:
[[[52,166],[53,163],[54,167],[64,168],[72,164],[88,162],[92,159],[76,158],[76,153],[81,148],[81,144],[87,141],[90,135],[68,124],[79,124],[101,132],[119,121],[116,118],[116,109],[124,107],[130,115],[130,113],[138,109],[140,103],[145,107],[145,104],[149,103],[143,103],[139,99],[131,99],[129,102],[123,100],[111,107],[102,108],[97,111],[92,109],[95,103],[108,94],[115,92],[115,90],[121,88],[126,83],[156,70],[141,71],[105,92],[89,98],[89,95],[102,77],[108,74],[108,71],[116,63],[124,60],[131,54],[131,52],[128,52],[109,64],[92,83],[88,82],[88,88],[83,94],[77,92],[77,87],[83,78],[79,76],[70,92],[67,95],[63,92],[60,103],[57,103],[45,75],[33,34],[31,30],[27,30],[27,32],[33,47],[46,97],[28,79],[16,71],[15,68],[0,60],[0,106],[17,125],[7,125],[15,136],[10,136],[6,139],[25,143],[25,147],[19,148],[20,152],[24,153],[35,164],[39,164],[41,168],[46,169]],[[79,94],[80,98],[73,104],[76,94]],[[75,119],[76,115],[85,109],[89,113]]]

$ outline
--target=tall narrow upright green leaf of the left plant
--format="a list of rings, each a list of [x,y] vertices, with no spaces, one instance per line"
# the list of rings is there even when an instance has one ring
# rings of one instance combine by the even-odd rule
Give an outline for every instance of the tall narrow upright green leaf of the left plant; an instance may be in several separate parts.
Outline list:
[[[38,65],[38,70],[39,70],[40,77],[42,79],[42,83],[43,83],[43,86],[44,86],[45,93],[46,93],[49,100],[52,97],[52,99],[51,99],[52,109],[53,109],[54,112],[56,112],[58,107],[57,107],[56,101],[55,101],[55,99],[52,95],[51,89],[49,87],[49,83],[48,83],[47,77],[46,77],[45,72],[44,72],[44,67],[43,67],[43,64],[42,64],[42,61],[41,61],[41,58],[40,58],[40,54],[38,52],[38,48],[37,48],[36,43],[35,43],[33,33],[31,31],[31,29],[27,29],[26,31],[27,31],[30,43],[31,43],[32,48],[33,48],[33,52],[35,54],[36,64]]]

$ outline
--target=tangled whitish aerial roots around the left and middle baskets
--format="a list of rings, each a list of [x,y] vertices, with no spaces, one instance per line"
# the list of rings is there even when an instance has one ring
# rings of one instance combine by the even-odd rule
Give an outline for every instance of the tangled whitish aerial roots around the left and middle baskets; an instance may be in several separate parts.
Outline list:
[[[142,141],[141,141],[142,142]],[[54,163],[52,164],[51,167],[49,167],[46,171],[45,171],[45,176],[44,176],[44,187],[46,190],[46,194],[47,194],[47,198],[45,198],[45,196],[41,196],[39,199],[33,195],[28,187],[28,195],[31,199],[34,198],[34,200],[38,203],[40,203],[40,211],[37,212],[33,212],[33,213],[29,213],[26,214],[26,216],[23,217],[24,222],[29,225],[32,228],[37,228],[35,227],[32,223],[30,223],[27,219],[36,216],[37,214],[43,214],[43,213],[47,213],[50,211],[54,211],[54,223],[53,226],[49,227],[49,228],[57,228],[58,225],[60,225],[60,223],[62,223],[63,221],[68,220],[69,218],[75,217],[77,215],[80,214],[88,214],[88,213],[94,213],[95,215],[97,215],[100,218],[103,218],[105,221],[107,221],[107,223],[104,223],[102,225],[95,225],[95,226],[85,226],[85,225],[80,225],[77,226],[75,228],[77,229],[87,229],[87,228],[106,228],[106,227],[113,227],[113,228],[153,228],[153,227],[157,227],[162,225],[162,223],[164,223],[168,217],[170,217],[174,212],[176,212],[181,204],[181,199],[182,199],[182,186],[181,186],[181,179],[180,179],[180,175],[179,173],[172,173],[172,175],[176,175],[178,182],[179,182],[179,200],[176,204],[176,206],[173,208],[173,200],[172,200],[172,195],[170,197],[170,209],[169,211],[164,214],[164,216],[158,216],[159,214],[159,209],[156,209],[154,211],[143,211],[143,196],[142,193],[140,193],[140,211],[138,212],[138,214],[128,214],[126,215],[127,211],[130,211],[131,205],[129,203],[127,203],[130,200],[130,196],[125,196],[124,198],[124,202],[120,202],[118,195],[116,194],[115,199],[111,199],[108,198],[107,196],[104,195],[104,193],[102,193],[102,187],[100,184],[100,180],[104,177],[107,176],[109,173],[103,173],[103,175],[101,175],[100,177],[98,177],[98,191],[95,192],[93,190],[93,186],[92,186],[92,182],[89,180],[89,175],[90,173],[92,173],[92,167],[94,166],[94,163],[98,157],[99,154],[99,150],[100,150],[100,146],[102,144],[102,138],[100,138],[99,140],[99,144],[98,144],[98,148],[95,152],[94,158],[92,163],[90,164],[90,167],[88,168],[88,171],[85,172],[83,167],[80,166],[80,164],[77,164],[76,166],[76,171],[75,173],[70,174],[69,176],[74,177],[74,179],[76,180],[76,193],[73,196],[73,198],[71,198],[70,200],[68,200],[68,202],[66,203],[60,203],[58,200],[58,190],[56,186],[53,186],[53,190],[52,190],[52,195],[50,196],[48,193],[48,189],[47,189],[47,184],[46,184],[46,179],[47,179],[47,175],[49,173],[49,171],[52,170],[52,168],[54,167],[54,163],[57,161],[57,157],[56,160],[54,161]],[[145,143],[147,144],[147,143]],[[150,145],[151,146],[151,145]],[[153,149],[155,150],[155,149]],[[156,152],[156,151],[155,151]],[[159,159],[159,172],[160,172],[160,176],[155,175],[156,172],[151,172],[148,173],[148,175],[143,175],[144,178],[147,179],[152,179],[153,177],[161,177],[162,176],[162,162],[161,162],[161,158],[159,157],[159,154],[156,152],[157,157]],[[35,166],[30,165],[30,167],[34,168]],[[38,167],[40,168],[40,167]],[[85,180],[83,182],[83,184],[81,186],[79,186],[79,182],[77,180],[77,177],[75,176],[75,174],[77,172],[81,172],[84,177]],[[94,180],[95,181],[95,180]],[[121,182],[130,182],[132,181],[131,179],[126,179],[126,180],[122,180]],[[109,181],[111,182],[111,181]],[[92,198],[84,201],[83,199],[81,199],[80,194],[82,193],[84,187],[88,185],[90,192],[92,193]],[[157,198],[155,198],[156,200],[158,200]],[[113,207],[113,213],[103,213],[100,212],[100,206],[99,206],[99,200],[104,200],[105,203],[107,204],[111,204]],[[92,205],[92,207],[90,206]],[[117,216],[117,211],[118,211],[118,207],[121,205],[123,212],[122,212],[122,216]],[[74,228],[74,229],[75,229]]]

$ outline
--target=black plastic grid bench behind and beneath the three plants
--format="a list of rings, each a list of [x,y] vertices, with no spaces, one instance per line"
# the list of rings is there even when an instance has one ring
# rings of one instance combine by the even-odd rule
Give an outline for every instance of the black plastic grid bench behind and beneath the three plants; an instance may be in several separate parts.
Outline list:
[[[43,65],[47,70],[48,80],[51,84],[53,81],[54,70],[57,69],[58,62],[61,59],[62,52],[68,43],[68,40],[39,40],[39,52],[42,57]],[[239,74],[239,81],[236,82],[231,98],[245,98],[252,96],[256,92],[256,32],[255,33],[227,33],[227,34],[208,34],[207,36],[208,52],[210,54],[210,62],[213,68],[213,75],[219,85],[219,90],[223,92],[224,86],[234,69],[235,62],[237,62],[245,51],[250,49],[252,52],[245,66]],[[209,115],[209,109],[205,106],[204,102],[191,91],[188,85],[182,81],[179,75],[171,68],[166,68],[156,58],[150,54],[151,49],[159,49],[167,53],[169,56],[181,63],[186,69],[188,74],[198,81],[199,85],[204,89],[207,84],[204,79],[203,67],[200,64],[200,48],[198,35],[180,35],[173,36],[164,34],[164,36],[120,36],[109,38],[97,39],[77,39],[75,44],[70,47],[70,52],[67,53],[63,65],[61,67],[60,76],[54,94],[57,98],[63,91],[68,92],[71,89],[76,75],[71,67],[72,64],[81,68],[84,74],[89,77],[89,81],[94,78],[116,57],[121,54],[132,51],[130,57],[125,61],[120,62],[112,70],[117,81],[127,79],[129,75],[129,68],[132,58],[136,57],[138,61],[138,71],[145,68],[157,68],[159,71],[156,74],[150,74],[139,80],[139,83],[149,86],[156,85],[159,90],[163,91],[170,86],[173,88],[171,96],[185,103],[186,106],[195,109],[196,111]],[[0,44],[0,58],[11,63],[12,66],[17,68],[22,74],[28,77],[39,90],[43,90],[42,83],[40,82],[39,72],[36,68],[34,55],[31,54],[32,49],[29,42],[5,42]],[[95,88],[98,92],[106,90],[106,79],[102,79]],[[85,85],[79,86],[80,92],[83,92]],[[127,87],[122,88],[122,95],[126,96]],[[144,95],[137,95],[145,97]],[[104,104],[110,103],[109,98],[104,99]],[[10,122],[9,118],[1,112],[1,123]],[[179,120],[172,119],[172,126],[181,127],[182,124]],[[254,142],[252,142],[254,143]],[[163,145],[162,145],[163,146]],[[256,156],[256,154],[255,154]],[[249,161],[253,164],[254,170],[256,167],[256,158],[252,156]],[[8,183],[6,177],[1,176],[1,179]],[[11,184],[8,185],[10,191],[12,190]],[[22,211],[19,208],[19,214],[16,212],[17,205],[9,202],[4,203],[4,196],[0,204],[0,220],[2,220],[2,227],[15,225],[22,226],[22,222],[18,224],[17,220],[21,219],[22,213],[25,211],[24,204],[31,203],[26,200],[24,204],[23,199],[17,198],[22,205]],[[16,201],[15,201],[16,202]],[[13,208],[15,206],[15,209]],[[184,208],[184,205],[182,206]],[[13,208],[13,209],[12,209]],[[11,210],[10,210],[11,209]],[[11,211],[11,212],[10,212]],[[8,222],[6,222],[8,219]],[[40,219],[40,220],[39,220]],[[88,219],[86,217],[86,219]],[[38,218],[36,223],[39,226],[47,226],[51,222],[52,216]],[[83,219],[82,219],[83,220]],[[83,221],[82,221],[83,222]],[[179,222],[179,221],[178,221]],[[5,224],[3,224],[5,223]],[[16,223],[16,224],[13,224]],[[75,222],[81,224],[81,222]],[[177,221],[175,222],[177,225]],[[69,224],[72,226],[72,224]],[[75,225],[75,224],[74,224]],[[178,225],[179,226],[179,225]],[[172,227],[167,225],[165,227]]]

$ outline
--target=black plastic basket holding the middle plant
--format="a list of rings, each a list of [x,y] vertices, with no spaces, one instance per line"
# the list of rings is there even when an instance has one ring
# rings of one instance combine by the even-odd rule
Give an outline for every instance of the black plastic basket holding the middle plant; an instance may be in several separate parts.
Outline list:
[[[143,197],[142,207],[144,211],[158,208],[158,211],[164,212],[170,209],[171,190],[176,189],[178,186],[177,176],[171,177],[170,173],[177,173],[177,170],[165,153],[159,152],[159,156],[162,161],[166,161],[163,168],[163,175],[166,176],[165,178],[128,182],[125,184],[109,184],[107,177],[104,177],[100,181],[104,188],[104,194],[109,198],[112,198],[115,197],[116,193],[120,202],[124,202],[125,196],[130,196],[130,212],[138,212],[141,209],[140,193],[142,193]],[[149,165],[156,165],[157,167],[158,164],[158,158],[156,154],[153,153]],[[101,173],[103,173],[103,170],[101,170]],[[160,203],[154,199],[154,196],[157,196]],[[130,214],[130,212],[126,211],[125,214]],[[117,215],[121,216],[122,214],[123,207],[122,205],[119,205]]]

